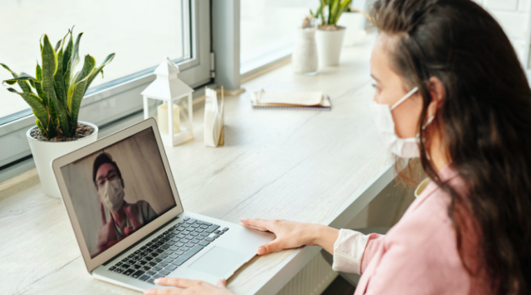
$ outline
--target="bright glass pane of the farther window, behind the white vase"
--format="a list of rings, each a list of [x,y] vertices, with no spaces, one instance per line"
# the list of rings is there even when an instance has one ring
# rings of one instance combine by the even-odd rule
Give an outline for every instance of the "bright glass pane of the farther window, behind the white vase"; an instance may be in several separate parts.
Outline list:
[[[317,6],[317,0],[241,0],[242,66],[264,55],[290,50],[297,28]]]

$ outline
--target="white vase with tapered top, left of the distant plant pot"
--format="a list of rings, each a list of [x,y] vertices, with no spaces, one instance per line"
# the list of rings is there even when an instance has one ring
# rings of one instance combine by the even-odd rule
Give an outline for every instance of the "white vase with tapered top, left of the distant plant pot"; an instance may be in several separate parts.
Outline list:
[[[302,75],[317,74],[317,44],[315,28],[299,28],[297,41],[291,56],[293,73]]]

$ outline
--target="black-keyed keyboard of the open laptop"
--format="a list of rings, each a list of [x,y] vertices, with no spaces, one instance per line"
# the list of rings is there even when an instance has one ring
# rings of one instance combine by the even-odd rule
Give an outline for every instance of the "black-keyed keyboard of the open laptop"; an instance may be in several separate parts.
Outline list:
[[[154,284],[197,254],[229,228],[184,218],[109,270]]]

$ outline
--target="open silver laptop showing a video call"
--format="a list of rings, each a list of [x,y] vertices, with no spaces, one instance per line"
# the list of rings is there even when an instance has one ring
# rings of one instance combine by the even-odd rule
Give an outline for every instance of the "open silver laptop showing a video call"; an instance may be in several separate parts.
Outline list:
[[[52,163],[86,269],[138,291],[160,277],[215,284],[274,235],[185,211],[153,118]],[[178,165],[177,165],[178,167]]]

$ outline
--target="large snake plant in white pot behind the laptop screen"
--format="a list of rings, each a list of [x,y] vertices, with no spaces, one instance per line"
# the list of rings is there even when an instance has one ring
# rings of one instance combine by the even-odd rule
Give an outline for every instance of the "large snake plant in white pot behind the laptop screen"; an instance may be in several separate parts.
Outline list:
[[[66,42],[68,35],[70,38]],[[83,33],[77,35],[74,44],[73,32],[68,30],[55,48],[48,36],[44,35],[39,41],[42,66],[37,63],[35,77],[24,72],[17,75],[5,64],[0,64],[13,76],[12,79],[3,81],[3,84],[18,84],[22,92],[10,87],[8,91],[20,95],[37,117],[37,126],[30,128],[26,137],[37,166],[41,187],[46,195],[55,198],[60,195],[51,161],[97,139],[97,126],[77,121],[77,115],[86,90],[99,73],[103,76],[104,66],[114,58],[113,53],[96,67],[94,57],[86,55],[84,64],[74,75],[80,62],[82,35]]]

